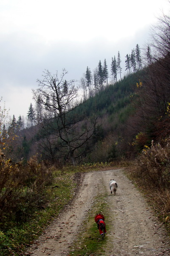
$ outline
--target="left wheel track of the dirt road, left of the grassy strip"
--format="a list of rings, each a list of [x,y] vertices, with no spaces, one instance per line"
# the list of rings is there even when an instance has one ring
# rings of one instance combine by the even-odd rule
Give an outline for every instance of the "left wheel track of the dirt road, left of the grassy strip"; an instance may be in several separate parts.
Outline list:
[[[94,177],[95,176],[95,177]],[[88,218],[88,211],[94,203],[97,188],[93,186],[96,173],[87,173],[71,205],[45,230],[25,255],[62,256],[68,255],[81,225]]]

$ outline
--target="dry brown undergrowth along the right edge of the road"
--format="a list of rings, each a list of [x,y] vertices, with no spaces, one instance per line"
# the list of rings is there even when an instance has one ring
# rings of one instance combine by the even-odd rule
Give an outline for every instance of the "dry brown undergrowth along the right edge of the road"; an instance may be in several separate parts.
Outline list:
[[[146,146],[128,173],[144,188],[147,199],[164,221],[170,214],[170,137]]]

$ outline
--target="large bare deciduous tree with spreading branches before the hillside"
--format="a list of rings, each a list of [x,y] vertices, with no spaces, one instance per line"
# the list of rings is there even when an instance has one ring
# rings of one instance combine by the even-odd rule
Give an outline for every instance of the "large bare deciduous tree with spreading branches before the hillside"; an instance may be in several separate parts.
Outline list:
[[[45,70],[43,80],[37,80],[39,88],[33,90],[33,94],[46,110],[41,122],[42,148],[44,151],[48,148],[53,160],[65,158],[75,164],[76,158],[89,150],[88,143],[95,131],[96,118],[90,120],[79,113],[76,103],[78,87],[75,87],[74,80],[64,79],[66,74],[63,69],[59,78],[57,73],[51,75]]]

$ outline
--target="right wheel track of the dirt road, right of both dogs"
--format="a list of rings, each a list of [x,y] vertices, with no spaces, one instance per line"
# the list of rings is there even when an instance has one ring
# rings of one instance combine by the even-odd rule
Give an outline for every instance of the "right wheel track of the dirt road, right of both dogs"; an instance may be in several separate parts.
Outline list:
[[[108,196],[112,230],[105,255],[169,256],[170,239],[142,194],[121,170],[108,171],[106,180],[109,176],[117,181],[118,190]]]

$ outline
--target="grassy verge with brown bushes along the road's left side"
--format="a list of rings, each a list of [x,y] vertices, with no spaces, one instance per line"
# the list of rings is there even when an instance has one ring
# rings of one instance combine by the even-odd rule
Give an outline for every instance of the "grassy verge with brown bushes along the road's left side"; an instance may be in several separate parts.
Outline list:
[[[13,163],[0,151],[0,256],[22,255],[74,197],[80,172],[111,168],[113,163],[48,166],[31,157]]]

